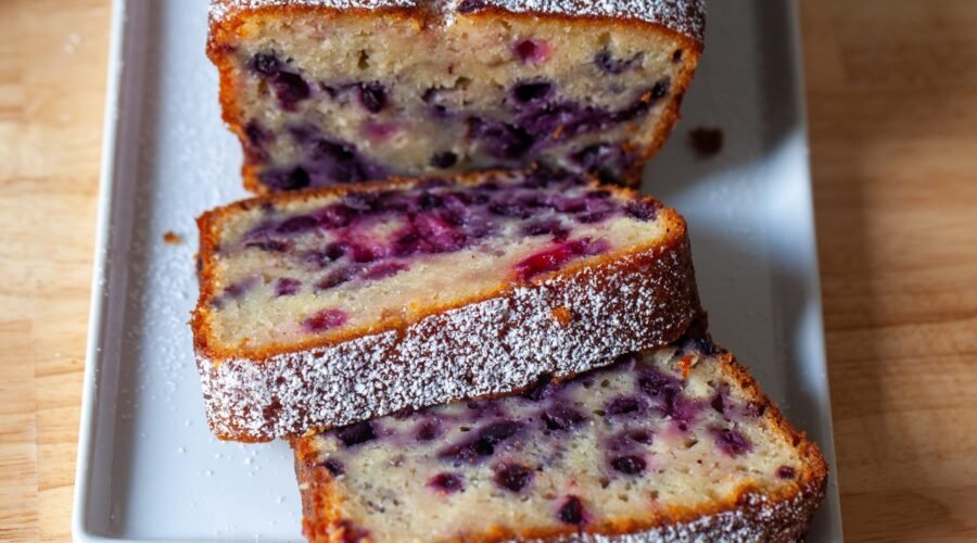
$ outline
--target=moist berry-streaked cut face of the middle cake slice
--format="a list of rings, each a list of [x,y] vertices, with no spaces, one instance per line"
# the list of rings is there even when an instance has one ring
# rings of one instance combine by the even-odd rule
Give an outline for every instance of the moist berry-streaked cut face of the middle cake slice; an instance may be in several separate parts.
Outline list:
[[[287,199],[220,218],[210,342],[369,332],[651,245],[659,204],[547,171]]]

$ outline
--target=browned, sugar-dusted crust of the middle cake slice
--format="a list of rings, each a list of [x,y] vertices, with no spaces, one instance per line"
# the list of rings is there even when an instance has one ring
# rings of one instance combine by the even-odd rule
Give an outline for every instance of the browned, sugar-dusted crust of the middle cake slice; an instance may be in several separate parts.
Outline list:
[[[456,180],[477,184],[492,175]],[[208,341],[214,252],[225,217],[266,203],[389,189],[391,182],[261,197],[199,219],[201,295],[191,328],[207,419],[217,437],[269,441],[402,408],[511,392],[542,374],[569,377],[625,352],[668,344],[701,313],[685,222],[662,207],[667,236],[660,243],[571,263],[411,321],[391,318],[373,330],[256,352]]]

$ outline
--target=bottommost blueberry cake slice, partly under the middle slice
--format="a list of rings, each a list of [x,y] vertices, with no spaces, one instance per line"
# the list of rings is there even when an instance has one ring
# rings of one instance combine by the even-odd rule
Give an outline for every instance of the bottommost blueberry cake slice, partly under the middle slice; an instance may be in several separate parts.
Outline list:
[[[292,445],[312,541],[798,541],[827,477],[708,340]]]

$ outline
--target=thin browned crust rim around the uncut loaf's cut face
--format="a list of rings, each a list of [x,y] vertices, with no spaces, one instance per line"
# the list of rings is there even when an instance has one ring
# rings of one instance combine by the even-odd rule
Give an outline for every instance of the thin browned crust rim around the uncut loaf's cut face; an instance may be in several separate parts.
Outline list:
[[[419,26],[424,25],[426,20],[429,16],[423,11],[418,9],[397,8],[392,5],[375,9],[337,9],[328,5],[277,4],[265,5],[262,8],[250,10],[233,10],[225,17],[212,17],[210,34],[207,37],[206,52],[207,56],[211,59],[211,62],[213,62],[214,65],[217,66],[217,71],[219,73],[219,100],[224,122],[227,124],[228,128],[238,136],[238,139],[241,141],[242,149],[245,150],[244,162],[241,166],[241,176],[244,179],[245,189],[257,194],[265,194],[269,192],[268,188],[258,180],[258,168],[252,163],[252,160],[246,156],[246,150],[250,146],[248,146],[248,136],[244,131],[245,119],[243,118],[241,110],[238,106],[237,97],[240,94],[240,92],[237,87],[240,77],[237,74],[237,65],[233,62],[233,50],[234,45],[238,43],[241,39],[241,27],[245,24],[261,21],[263,18],[277,20],[297,15],[315,15],[322,20],[331,20],[337,18],[340,15],[350,14],[363,17],[377,16],[379,14],[382,14],[383,16],[390,17],[391,20],[399,20],[401,23],[410,21],[413,22],[413,24]],[[672,128],[675,126],[675,123],[681,117],[680,108],[682,105],[682,100],[685,96],[685,91],[688,88],[688,85],[691,83],[693,76],[696,72],[696,66],[699,61],[699,55],[702,52],[703,46],[701,39],[687,34],[682,34],[660,23],[635,18],[614,18],[594,15],[568,15],[559,13],[536,13],[532,11],[513,13],[494,7],[490,7],[474,13],[469,13],[464,16],[502,18],[508,17],[513,20],[528,17],[550,20],[557,18],[564,21],[568,25],[578,26],[600,25],[604,28],[627,26],[640,27],[647,29],[647,31],[659,33],[681,43],[682,49],[687,54],[683,55],[683,67],[678,73],[677,79],[672,84],[668,99],[661,104],[661,108],[664,108],[664,111],[661,113],[659,122],[650,128],[650,142],[643,150],[625,149],[625,151],[637,152],[638,156],[640,156],[640,160],[635,161],[635,164],[630,168],[630,171],[622,175],[622,180],[630,187],[637,187],[638,185],[640,185],[644,161],[647,161],[658,152],[658,150],[671,134]]]

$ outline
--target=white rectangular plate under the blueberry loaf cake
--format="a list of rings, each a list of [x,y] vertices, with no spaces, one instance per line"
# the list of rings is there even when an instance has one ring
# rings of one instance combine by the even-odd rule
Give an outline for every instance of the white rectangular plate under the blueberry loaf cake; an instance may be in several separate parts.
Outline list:
[[[796,13],[762,0],[710,9],[685,118],[645,188],[688,219],[714,337],[834,466]],[[301,539],[288,446],[215,440],[193,362],[193,219],[245,195],[206,20],[203,0],[115,3],[78,541]],[[697,126],[723,129],[719,155],[696,157]],[[170,230],[185,241],[164,243]],[[834,481],[812,541],[841,539]]]

